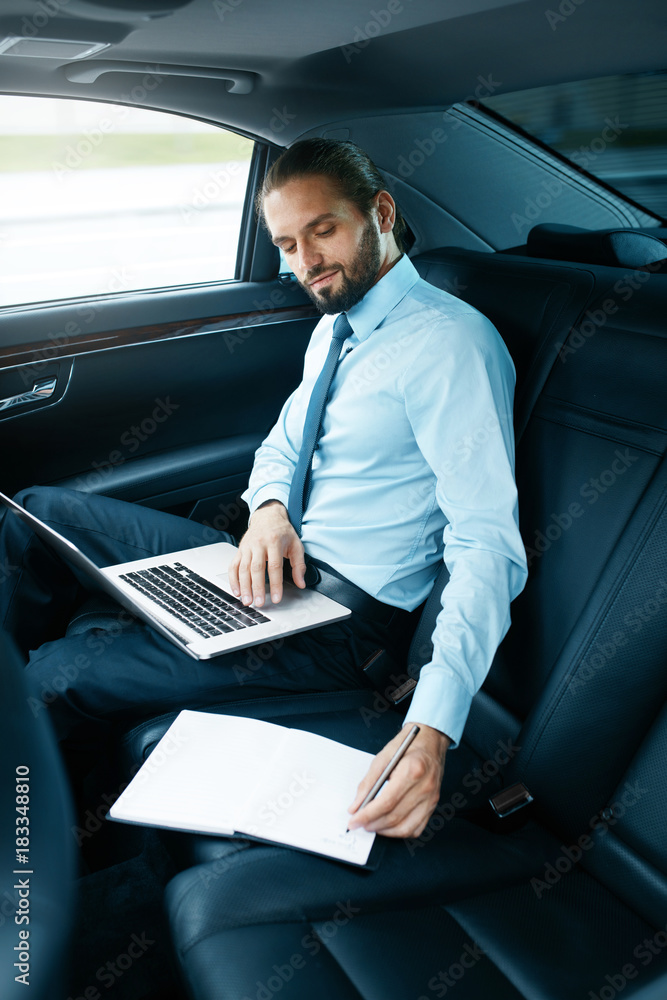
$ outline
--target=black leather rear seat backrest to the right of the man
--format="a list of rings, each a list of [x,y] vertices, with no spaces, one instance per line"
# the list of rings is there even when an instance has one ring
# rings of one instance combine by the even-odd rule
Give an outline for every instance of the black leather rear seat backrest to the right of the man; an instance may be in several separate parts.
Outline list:
[[[431,266],[427,278],[447,274],[446,260],[461,274],[464,255],[437,256],[443,270]],[[483,255],[465,254],[472,256]],[[513,263],[519,280],[525,267],[530,281],[531,262]],[[462,296],[484,309],[503,270],[486,257],[478,292],[469,267],[459,277],[467,285]],[[491,757],[503,726],[522,720],[522,749],[506,783],[527,784],[542,819],[570,848],[568,863],[578,851],[627,906],[664,927],[667,275],[586,273],[595,275],[597,294],[585,304],[571,297],[583,322],[570,319],[546,379],[544,365],[528,364],[526,345],[519,348],[527,381],[532,375],[542,383],[517,391],[517,418],[526,426],[517,434],[517,485],[529,581],[464,739]],[[513,309],[513,297],[484,309],[510,349]],[[546,342],[559,336],[556,318],[544,339],[545,312],[538,312],[539,330],[521,318],[543,359]]]

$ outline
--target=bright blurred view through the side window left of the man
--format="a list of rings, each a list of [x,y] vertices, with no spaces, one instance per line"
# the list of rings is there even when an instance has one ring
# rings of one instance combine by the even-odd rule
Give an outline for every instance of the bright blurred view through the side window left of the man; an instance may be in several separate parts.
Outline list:
[[[177,115],[0,96],[0,305],[233,278],[252,147]]]

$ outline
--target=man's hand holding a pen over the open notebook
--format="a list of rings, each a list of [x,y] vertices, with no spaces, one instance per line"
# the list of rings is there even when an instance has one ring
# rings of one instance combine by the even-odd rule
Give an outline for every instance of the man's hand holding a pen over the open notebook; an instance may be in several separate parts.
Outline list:
[[[426,827],[440,798],[445,754],[451,740],[430,726],[419,733],[398,762],[383,790],[363,809],[359,806],[401,745],[411,724],[380,751],[359,784],[350,806],[350,830],[364,827],[385,837],[418,837]],[[359,811],[357,811],[359,810]]]

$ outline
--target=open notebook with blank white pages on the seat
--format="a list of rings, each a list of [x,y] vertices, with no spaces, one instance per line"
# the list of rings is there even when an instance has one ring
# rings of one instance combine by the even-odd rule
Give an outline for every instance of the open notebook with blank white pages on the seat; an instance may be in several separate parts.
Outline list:
[[[346,832],[372,754],[270,722],[182,711],[109,810],[126,823],[241,834],[365,865]]]

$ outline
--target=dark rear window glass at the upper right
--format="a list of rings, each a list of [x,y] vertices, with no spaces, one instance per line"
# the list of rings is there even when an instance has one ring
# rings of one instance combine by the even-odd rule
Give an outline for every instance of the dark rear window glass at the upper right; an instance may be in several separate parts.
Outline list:
[[[667,218],[667,70],[536,87],[484,104]]]

